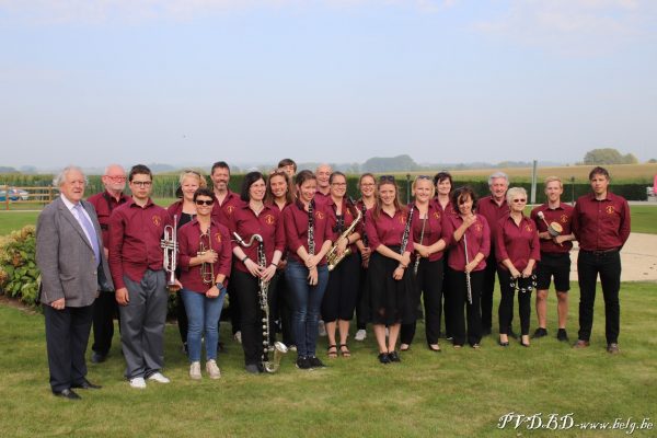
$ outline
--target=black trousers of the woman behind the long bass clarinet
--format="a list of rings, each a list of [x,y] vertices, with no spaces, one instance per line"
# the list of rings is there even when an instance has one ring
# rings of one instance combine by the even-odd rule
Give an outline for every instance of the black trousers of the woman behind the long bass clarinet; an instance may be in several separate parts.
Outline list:
[[[235,269],[231,276],[233,284],[233,293],[238,297],[240,303],[240,322],[242,331],[242,349],[244,350],[244,364],[257,365],[263,360],[263,312],[260,306],[260,284],[258,279],[249,273]],[[269,283],[268,302],[272,302],[272,295],[276,290],[276,276]],[[272,308],[269,307],[269,310]],[[274,341],[275,315],[269,311],[269,335],[270,342]]]

